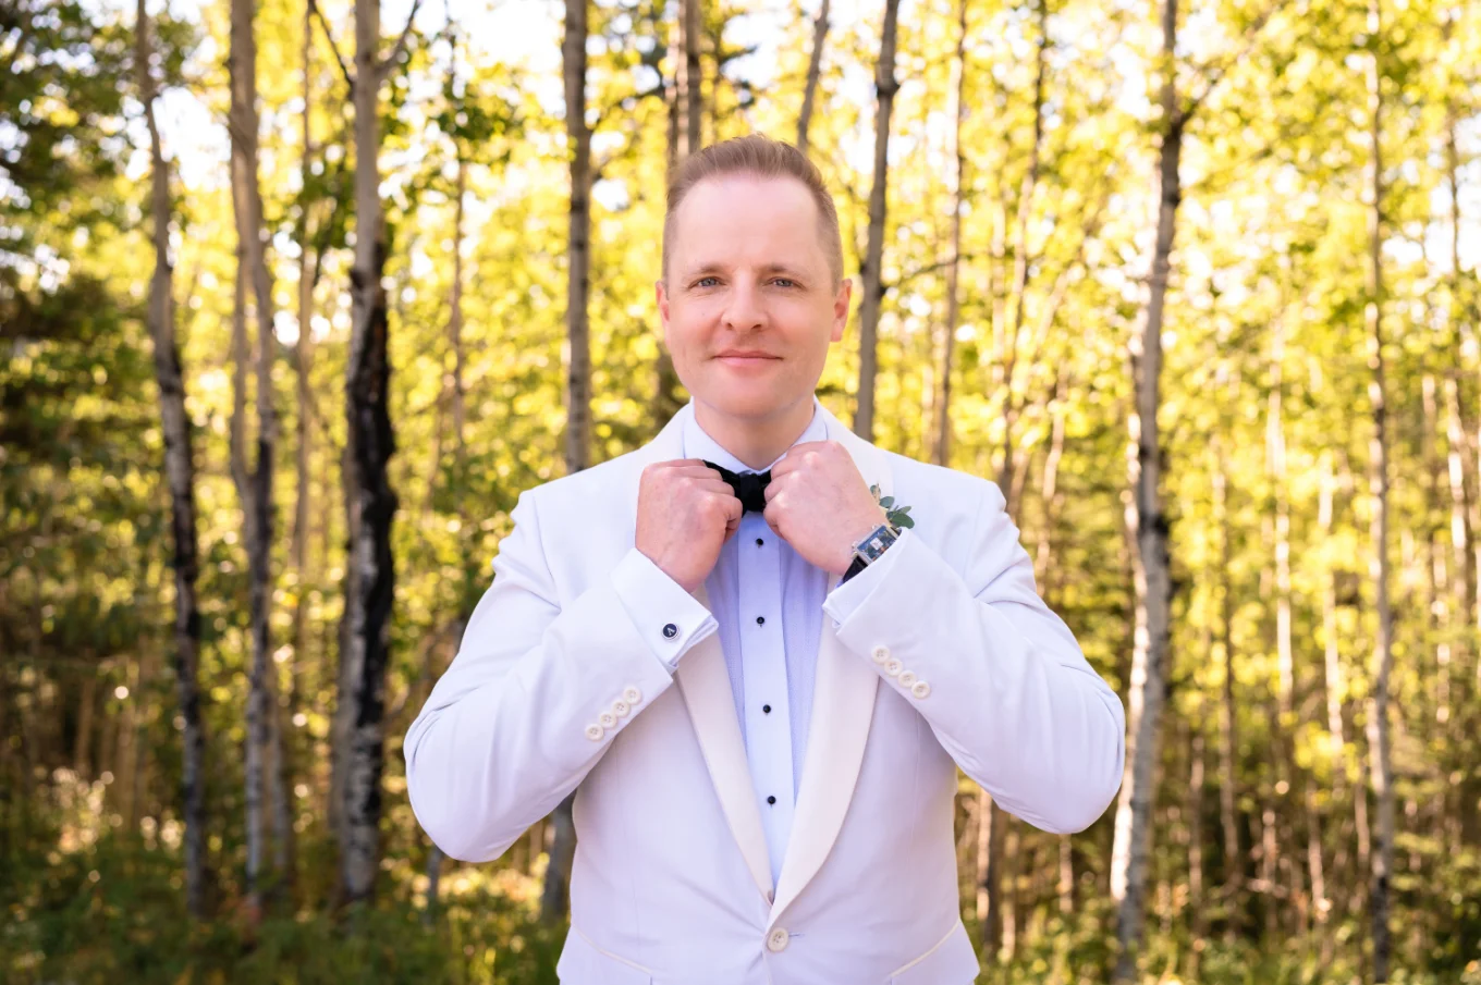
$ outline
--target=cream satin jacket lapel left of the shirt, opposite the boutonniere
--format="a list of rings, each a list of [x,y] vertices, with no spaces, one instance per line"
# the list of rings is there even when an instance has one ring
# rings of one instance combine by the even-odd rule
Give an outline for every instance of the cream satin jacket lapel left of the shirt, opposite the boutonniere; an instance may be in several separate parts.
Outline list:
[[[683,458],[684,419],[693,413],[693,403],[681,407],[658,437],[634,456],[637,474],[634,474],[628,490],[634,529],[637,526],[638,478],[643,468],[652,462]],[[709,607],[703,585],[695,595],[701,604]],[[772,862],[766,852],[761,809],[755,803],[755,791],[751,787],[745,739],[740,736],[740,723],[736,720],[730,674],[726,670],[726,656],[720,647],[718,632],[711,632],[680,658],[677,681],[730,834],[735,835],[736,844],[740,847],[740,855],[745,858],[757,889],[770,901]]]

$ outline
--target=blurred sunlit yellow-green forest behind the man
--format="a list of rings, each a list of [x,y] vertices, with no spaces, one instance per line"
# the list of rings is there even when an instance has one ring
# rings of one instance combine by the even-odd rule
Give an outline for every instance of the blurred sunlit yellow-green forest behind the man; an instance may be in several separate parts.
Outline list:
[[[305,6],[307,4],[307,6]],[[684,400],[665,175],[806,144],[820,395],[994,478],[1120,803],[963,781],[983,982],[1481,982],[1481,7],[0,0],[0,978],[551,982],[400,742]],[[554,862],[551,861],[554,859]]]

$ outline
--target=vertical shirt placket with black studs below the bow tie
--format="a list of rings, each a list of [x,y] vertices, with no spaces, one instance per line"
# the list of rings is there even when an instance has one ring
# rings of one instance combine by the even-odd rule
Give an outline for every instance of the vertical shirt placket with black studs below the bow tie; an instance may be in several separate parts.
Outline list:
[[[792,729],[782,634],[780,545],[758,512],[740,521],[739,550],[740,659],[745,667],[745,736],[751,782],[772,856],[780,871],[792,828]]]

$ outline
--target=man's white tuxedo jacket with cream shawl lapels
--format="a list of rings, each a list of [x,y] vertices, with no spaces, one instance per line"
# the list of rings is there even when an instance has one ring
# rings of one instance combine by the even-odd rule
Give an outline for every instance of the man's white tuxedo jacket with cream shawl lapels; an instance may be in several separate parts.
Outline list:
[[[1121,782],[1121,704],[1040,600],[995,484],[820,410],[915,527],[857,576],[874,582],[863,603],[823,618],[773,886],[718,634],[671,675],[662,609],[624,601],[652,566],[632,547],[640,473],[681,458],[689,413],[520,496],[493,585],[406,735],[416,818],[483,862],[579,785],[566,985],[967,985],[957,767],[1040,828],[1083,829]]]

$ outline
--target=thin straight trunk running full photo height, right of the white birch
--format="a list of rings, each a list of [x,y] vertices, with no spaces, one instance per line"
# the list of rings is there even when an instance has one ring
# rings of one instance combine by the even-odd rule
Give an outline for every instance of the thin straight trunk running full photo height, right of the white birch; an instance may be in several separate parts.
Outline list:
[[[1368,39],[1382,39],[1379,0],[1368,0]],[[1368,443],[1368,492],[1373,496],[1373,557],[1368,575],[1373,578],[1377,609],[1377,635],[1373,646],[1373,689],[1368,698],[1368,754],[1371,755],[1373,800],[1377,807],[1376,846],[1371,853],[1370,908],[1373,920],[1373,981],[1386,982],[1389,969],[1389,874],[1394,868],[1394,775],[1389,761],[1389,670],[1394,638],[1394,613],[1389,607],[1389,475],[1388,475],[1388,393],[1383,378],[1383,154],[1382,154],[1382,67],[1377,47],[1368,62],[1368,175],[1365,198],[1368,206],[1367,304],[1364,321],[1368,336],[1368,400],[1373,407],[1373,437]]]

